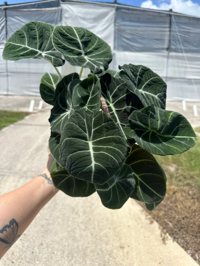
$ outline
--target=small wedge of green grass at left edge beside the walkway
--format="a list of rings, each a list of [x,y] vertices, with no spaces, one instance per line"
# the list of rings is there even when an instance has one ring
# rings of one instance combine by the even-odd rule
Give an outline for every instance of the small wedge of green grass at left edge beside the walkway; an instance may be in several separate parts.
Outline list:
[[[0,130],[4,127],[9,126],[12,123],[23,119],[28,114],[29,112],[13,112],[7,110],[0,110]]]

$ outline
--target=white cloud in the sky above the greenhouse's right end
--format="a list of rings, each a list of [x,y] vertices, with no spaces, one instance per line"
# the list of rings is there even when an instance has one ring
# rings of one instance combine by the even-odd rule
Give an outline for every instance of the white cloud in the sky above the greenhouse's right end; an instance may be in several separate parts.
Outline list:
[[[146,0],[142,2],[141,7],[161,10],[172,9],[174,12],[200,17],[200,5],[191,0],[170,0],[170,2],[161,1],[159,5],[153,4],[152,0]]]

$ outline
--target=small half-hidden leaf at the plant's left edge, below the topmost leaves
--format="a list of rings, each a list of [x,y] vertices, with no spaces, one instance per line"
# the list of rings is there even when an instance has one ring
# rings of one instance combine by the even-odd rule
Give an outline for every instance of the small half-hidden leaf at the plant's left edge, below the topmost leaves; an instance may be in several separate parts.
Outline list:
[[[41,99],[44,100],[46,103],[53,105],[55,89],[59,81],[60,77],[58,75],[45,73],[42,76],[40,83],[40,95]]]

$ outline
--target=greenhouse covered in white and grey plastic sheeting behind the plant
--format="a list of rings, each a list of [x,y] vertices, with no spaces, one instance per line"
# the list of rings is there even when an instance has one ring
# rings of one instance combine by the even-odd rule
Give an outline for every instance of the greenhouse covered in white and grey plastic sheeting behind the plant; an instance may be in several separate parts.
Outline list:
[[[6,39],[29,21],[86,28],[111,46],[111,69],[129,63],[148,66],[167,83],[168,101],[200,101],[200,18],[76,0],[0,6],[0,95],[39,96],[41,73],[55,73],[42,59],[2,59]],[[80,72],[68,62],[59,68],[63,75]],[[87,74],[84,69],[82,77]]]

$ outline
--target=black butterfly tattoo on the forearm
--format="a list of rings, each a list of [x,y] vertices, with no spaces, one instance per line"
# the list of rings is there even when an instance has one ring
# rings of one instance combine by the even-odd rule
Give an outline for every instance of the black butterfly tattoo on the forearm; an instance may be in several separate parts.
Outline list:
[[[9,222],[9,225],[5,225],[0,230],[0,242],[3,242],[6,244],[5,248],[10,248],[14,242],[21,236],[21,234],[18,234],[18,223],[15,219],[12,219]]]

